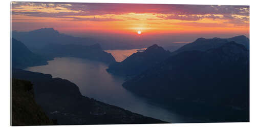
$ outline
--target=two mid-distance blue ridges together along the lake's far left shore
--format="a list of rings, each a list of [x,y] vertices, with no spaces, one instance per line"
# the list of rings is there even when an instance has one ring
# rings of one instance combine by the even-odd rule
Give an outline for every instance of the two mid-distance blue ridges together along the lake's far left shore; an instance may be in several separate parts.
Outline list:
[[[25,69],[31,66],[47,65],[47,61],[54,57],[66,56],[106,63],[115,62],[115,58],[103,51],[99,44],[92,46],[51,44],[33,53],[23,42],[12,38],[12,68]]]

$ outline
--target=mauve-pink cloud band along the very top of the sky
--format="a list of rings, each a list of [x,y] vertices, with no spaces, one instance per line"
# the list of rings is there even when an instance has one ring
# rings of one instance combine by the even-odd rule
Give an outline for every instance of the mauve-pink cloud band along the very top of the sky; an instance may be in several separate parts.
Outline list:
[[[89,12],[90,15],[124,13],[160,13],[160,14],[239,14],[249,16],[249,6],[217,5],[168,5],[168,4],[109,4],[109,3],[40,3],[16,2],[13,8],[36,6],[45,8],[62,7],[69,10]]]

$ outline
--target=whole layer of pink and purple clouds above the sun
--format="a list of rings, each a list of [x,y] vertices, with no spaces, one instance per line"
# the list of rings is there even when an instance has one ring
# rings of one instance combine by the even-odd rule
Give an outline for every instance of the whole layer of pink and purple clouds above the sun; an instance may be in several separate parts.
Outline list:
[[[58,12],[22,11],[27,7],[51,8]],[[155,19],[178,19],[198,21],[203,18],[226,19],[230,24],[249,21],[249,6],[218,5],[167,5],[167,4],[109,4],[109,3],[47,3],[47,2],[13,2],[13,15],[34,17],[73,18],[73,20],[114,21],[115,18],[78,18],[75,16],[121,15],[127,13],[153,13]],[[66,10],[64,12],[63,10]],[[68,10],[68,11],[67,11]],[[221,16],[220,16],[221,15]],[[140,20],[126,17],[125,19]]]

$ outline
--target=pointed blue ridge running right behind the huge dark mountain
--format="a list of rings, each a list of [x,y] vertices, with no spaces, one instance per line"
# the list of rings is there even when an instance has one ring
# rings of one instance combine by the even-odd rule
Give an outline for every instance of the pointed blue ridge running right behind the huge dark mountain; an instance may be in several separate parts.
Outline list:
[[[217,37],[211,39],[198,38],[194,42],[186,45],[183,44],[184,46],[172,53],[157,45],[150,46],[144,52],[134,53],[121,62],[111,63],[107,71],[122,76],[135,76],[165,60],[170,55],[175,55],[184,51],[206,51],[218,48],[229,41],[236,41],[238,44],[242,44],[249,49],[249,39],[243,35],[226,39]]]

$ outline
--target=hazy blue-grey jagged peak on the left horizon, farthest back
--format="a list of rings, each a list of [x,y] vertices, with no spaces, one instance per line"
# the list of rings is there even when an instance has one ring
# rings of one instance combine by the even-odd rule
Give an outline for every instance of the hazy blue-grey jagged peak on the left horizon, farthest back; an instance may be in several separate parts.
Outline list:
[[[92,38],[81,38],[62,34],[53,28],[41,28],[29,32],[12,31],[12,37],[24,42],[24,44],[33,52],[43,48],[48,44],[96,44],[96,41]]]

